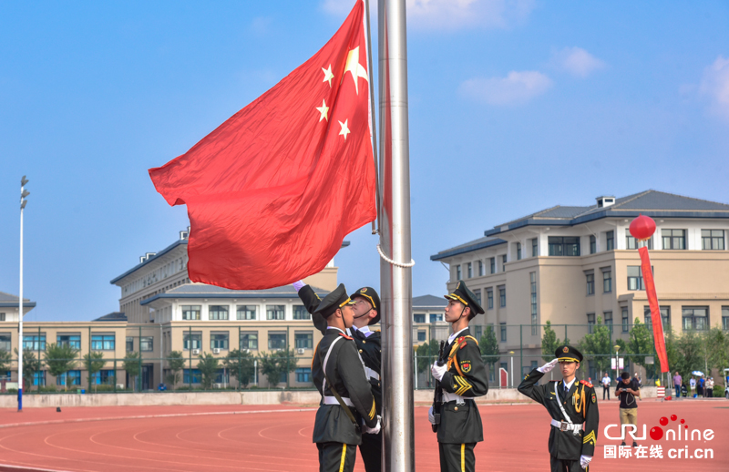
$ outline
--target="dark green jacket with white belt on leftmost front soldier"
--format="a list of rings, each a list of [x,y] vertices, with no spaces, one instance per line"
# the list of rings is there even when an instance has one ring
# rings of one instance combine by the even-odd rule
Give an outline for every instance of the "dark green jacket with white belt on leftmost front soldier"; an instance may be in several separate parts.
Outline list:
[[[326,386],[322,388],[323,362],[329,346],[337,338],[340,340],[334,344],[326,363],[326,375],[332,384],[326,382]],[[332,394],[334,388],[343,399],[352,400],[354,407],[349,408],[353,410],[358,424],[361,424],[360,418],[362,418],[367,426],[375,426],[377,423],[375,398],[370,392],[370,385],[364,375],[364,367],[357,356],[356,344],[352,338],[335,328],[327,330],[313,354],[312,374],[313,383],[320,394],[334,396]],[[362,443],[362,433],[354,426],[341,405],[324,405],[322,400],[314,420],[313,442],[359,445]]]

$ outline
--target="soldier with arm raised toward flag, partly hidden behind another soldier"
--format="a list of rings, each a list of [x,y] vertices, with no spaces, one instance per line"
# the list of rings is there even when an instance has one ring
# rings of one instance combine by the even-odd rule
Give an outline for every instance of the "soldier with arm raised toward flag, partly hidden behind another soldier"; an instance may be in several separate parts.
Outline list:
[[[299,293],[306,310],[313,313],[320,300],[312,287],[303,282],[295,282],[293,287]],[[354,322],[348,334],[357,345],[357,352],[364,364],[364,374],[369,379],[372,395],[375,396],[377,415],[382,415],[382,387],[380,385],[380,367],[382,365],[382,344],[379,331],[371,331],[370,325],[380,321],[380,297],[372,287],[363,287],[352,293],[354,305]],[[314,326],[323,334],[326,333],[326,320],[320,314],[313,313]],[[366,472],[382,470],[382,432],[376,435],[362,436],[359,446],[360,456]]]

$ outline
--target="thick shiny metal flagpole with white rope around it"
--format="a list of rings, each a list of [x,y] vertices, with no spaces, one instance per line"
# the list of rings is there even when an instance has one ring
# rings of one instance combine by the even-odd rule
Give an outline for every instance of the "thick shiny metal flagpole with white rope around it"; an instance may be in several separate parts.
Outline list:
[[[379,0],[383,468],[415,470],[406,0]],[[387,258],[387,259],[385,259]]]

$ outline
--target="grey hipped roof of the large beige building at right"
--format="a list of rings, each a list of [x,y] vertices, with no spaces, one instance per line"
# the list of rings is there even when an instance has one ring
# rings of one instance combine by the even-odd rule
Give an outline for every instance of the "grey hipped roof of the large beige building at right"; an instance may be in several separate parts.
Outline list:
[[[584,207],[557,205],[499,224],[492,230],[484,231],[486,237],[440,251],[430,256],[430,259],[440,261],[457,254],[503,244],[506,241],[495,236],[525,226],[575,226],[603,218],[635,218],[640,214],[652,218],[729,218],[729,205],[658,190],[645,190],[621,197],[608,207],[600,207],[597,202]]]

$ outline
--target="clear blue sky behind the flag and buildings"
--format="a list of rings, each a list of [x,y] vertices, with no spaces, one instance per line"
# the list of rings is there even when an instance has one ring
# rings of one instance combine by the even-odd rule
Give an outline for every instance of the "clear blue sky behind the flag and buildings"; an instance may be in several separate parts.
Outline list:
[[[431,254],[535,210],[647,189],[729,203],[726,2],[407,3],[414,295],[445,290]],[[0,291],[18,292],[26,174],[29,319],[117,310],[109,281],[188,225],[147,169],[312,56],[352,5],[0,3]],[[340,281],[377,286],[375,237],[347,240]]]

